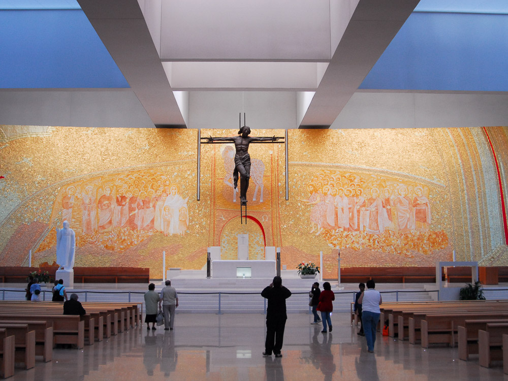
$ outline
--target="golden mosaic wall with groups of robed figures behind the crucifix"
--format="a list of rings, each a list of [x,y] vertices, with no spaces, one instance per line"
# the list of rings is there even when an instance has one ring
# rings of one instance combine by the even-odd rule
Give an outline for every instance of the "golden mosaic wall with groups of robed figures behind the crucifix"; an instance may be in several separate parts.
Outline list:
[[[76,232],[75,266],[201,269],[206,247],[251,259],[280,246],[282,264],[505,264],[508,129],[290,130],[284,144],[251,144],[247,224],[233,189],[234,145],[201,145],[197,130],[0,126],[0,266],[55,260],[55,227]],[[232,136],[237,130],[202,130]],[[284,136],[254,130],[253,136]],[[494,149],[494,151],[492,150]],[[495,152],[495,155],[493,154]],[[505,203],[508,205],[508,202]]]

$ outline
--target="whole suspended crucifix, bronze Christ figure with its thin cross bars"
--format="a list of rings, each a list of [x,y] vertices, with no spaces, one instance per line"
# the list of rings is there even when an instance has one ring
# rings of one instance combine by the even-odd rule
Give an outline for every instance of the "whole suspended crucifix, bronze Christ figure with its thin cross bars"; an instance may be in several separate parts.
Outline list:
[[[240,175],[240,218],[243,224],[243,217],[245,216],[245,224],[247,223],[247,189],[249,187],[250,179],[250,155],[248,153],[250,143],[285,143],[284,141],[278,142],[279,139],[284,139],[277,136],[272,137],[256,137],[249,136],[250,128],[245,125],[245,114],[243,116],[244,125],[241,126],[241,113],[240,113],[240,130],[238,136],[221,137],[221,138],[201,138],[199,144],[220,144],[220,143],[235,143],[235,169],[233,171],[233,185],[236,190],[238,187],[238,175]],[[202,141],[205,140],[205,141]],[[199,157],[199,156],[198,156]],[[198,158],[199,160],[199,158]],[[198,181],[199,181],[199,163],[198,163]],[[199,192],[199,191],[198,191]],[[198,198],[199,200],[199,198]],[[243,207],[245,207],[245,214],[243,214]]]

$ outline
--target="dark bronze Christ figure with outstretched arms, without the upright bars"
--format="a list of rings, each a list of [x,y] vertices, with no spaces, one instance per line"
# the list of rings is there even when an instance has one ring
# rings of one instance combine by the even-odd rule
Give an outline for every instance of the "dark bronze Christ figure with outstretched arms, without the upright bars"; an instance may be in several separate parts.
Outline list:
[[[233,182],[235,189],[238,186],[238,173],[240,173],[240,202],[241,205],[247,205],[247,189],[249,187],[250,178],[250,155],[249,155],[249,144],[250,142],[268,142],[276,141],[278,137],[261,138],[249,136],[250,128],[244,125],[238,131],[238,136],[229,138],[212,138],[208,139],[208,142],[233,142],[235,143],[235,170],[233,171]]]

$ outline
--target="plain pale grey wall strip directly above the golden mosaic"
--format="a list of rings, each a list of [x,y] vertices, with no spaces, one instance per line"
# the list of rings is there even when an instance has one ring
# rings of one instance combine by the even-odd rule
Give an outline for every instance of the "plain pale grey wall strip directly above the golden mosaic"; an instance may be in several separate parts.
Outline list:
[[[296,104],[295,92],[190,92],[188,127],[234,129],[245,111],[252,128],[292,129]],[[2,90],[0,124],[154,127],[131,90]],[[356,92],[331,128],[492,125],[508,125],[508,94]]]

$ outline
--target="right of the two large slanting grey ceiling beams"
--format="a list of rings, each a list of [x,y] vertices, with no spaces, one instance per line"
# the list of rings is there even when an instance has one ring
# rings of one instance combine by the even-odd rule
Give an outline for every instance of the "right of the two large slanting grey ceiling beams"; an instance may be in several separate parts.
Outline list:
[[[329,128],[419,0],[360,0],[300,128]]]

